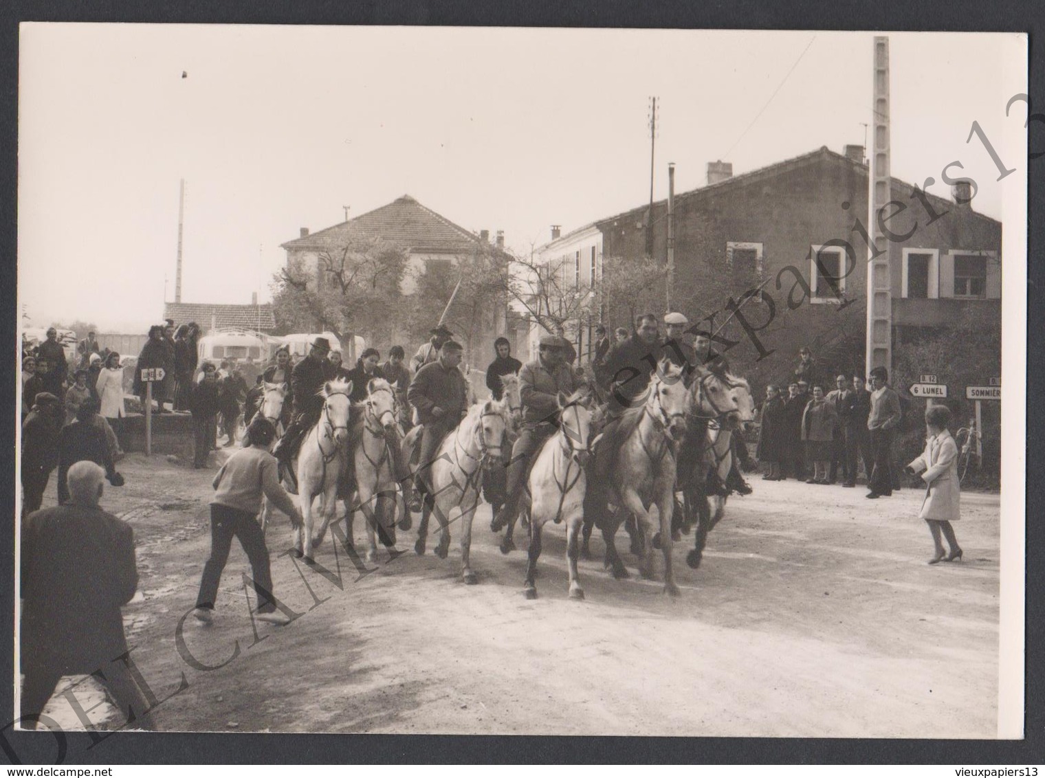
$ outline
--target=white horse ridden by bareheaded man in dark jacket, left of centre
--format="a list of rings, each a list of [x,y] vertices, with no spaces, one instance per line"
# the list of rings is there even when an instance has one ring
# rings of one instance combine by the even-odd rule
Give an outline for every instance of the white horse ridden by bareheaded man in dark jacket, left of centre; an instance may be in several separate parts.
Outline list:
[[[435,499],[425,498],[423,501],[414,550],[418,555],[424,553],[428,517],[434,510],[440,527],[436,556],[446,559],[450,546],[449,515],[457,509],[463,521],[461,576],[466,584],[479,581],[471,571],[469,550],[471,522],[482,488],[481,468],[502,467],[505,429],[509,423],[504,400],[487,400],[472,405],[461,423],[446,435],[429,466],[427,480],[432,484]]]

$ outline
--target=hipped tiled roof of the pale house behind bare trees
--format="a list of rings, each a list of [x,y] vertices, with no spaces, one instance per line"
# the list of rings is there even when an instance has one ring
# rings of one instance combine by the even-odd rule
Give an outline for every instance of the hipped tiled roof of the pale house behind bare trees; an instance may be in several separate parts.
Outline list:
[[[482,238],[409,194],[362,216],[287,241],[283,249],[323,250],[357,236],[379,237],[419,254],[470,254]]]

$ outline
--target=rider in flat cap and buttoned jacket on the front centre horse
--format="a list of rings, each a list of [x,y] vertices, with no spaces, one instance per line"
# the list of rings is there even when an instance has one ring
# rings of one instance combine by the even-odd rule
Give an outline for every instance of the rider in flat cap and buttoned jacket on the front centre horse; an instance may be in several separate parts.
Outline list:
[[[555,433],[559,411],[559,393],[577,391],[577,375],[566,362],[567,341],[558,335],[541,335],[537,358],[519,371],[519,395],[522,401],[522,428],[512,447],[508,465],[507,500],[497,512],[491,528],[497,532],[518,514],[518,499],[526,474],[544,442]]]

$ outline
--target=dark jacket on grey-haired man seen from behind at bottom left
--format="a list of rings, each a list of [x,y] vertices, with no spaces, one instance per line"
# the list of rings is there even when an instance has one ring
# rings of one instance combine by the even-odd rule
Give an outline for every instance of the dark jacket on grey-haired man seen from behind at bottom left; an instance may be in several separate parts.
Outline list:
[[[22,531],[22,661],[94,673],[126,652],[120,606],[138,587],[134,532],[100,508],[31,514]]]

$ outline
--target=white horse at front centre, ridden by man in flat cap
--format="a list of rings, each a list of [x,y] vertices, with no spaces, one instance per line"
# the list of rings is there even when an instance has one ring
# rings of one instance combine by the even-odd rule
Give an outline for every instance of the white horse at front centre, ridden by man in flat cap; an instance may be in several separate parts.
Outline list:
[[[540,537],[544,524],[566,522],[566,564],[570,567],[570,596],[584,599],[577,577],[577,557],[580,553],[579,535],[584,520],[584,490],[587,485],[584,469],[587,467],[591,444],[591,409],[587,406],[589,395],[576,392],[566,397],[558,395],[559,431],[541,446],[530,470],[528,489],[521,502],[530,514],[530,560],[526,571],[526,597],[537,598],[534,579],[537,559],[540,557]]]

